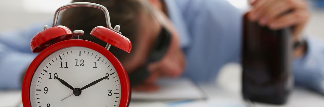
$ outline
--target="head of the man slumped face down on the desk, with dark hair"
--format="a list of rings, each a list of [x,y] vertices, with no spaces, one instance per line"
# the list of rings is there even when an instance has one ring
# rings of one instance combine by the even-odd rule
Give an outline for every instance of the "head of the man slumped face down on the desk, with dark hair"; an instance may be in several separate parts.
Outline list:
[[[97,3],[108,9],[111,25],[120,25],[122,35],[129,38],[133,45],[130,54],[114,47],[110,48],[110,52],[123,63],[128,72],[133,72],[146,63],[162,27],[170,32],[171,41],[163,58],[148,65],[147,69],[152,73],[150,78],[179,76],[183,71],[184,55],[179,47],[177,33],[167,18],[165,4],[161,0],[73,0],[73,2]],[[67,26],[71,30],[85,31],[85,35],[80,39],[90,40],[101,46],[106,45],[105,42],[89,35],[94,27],[106,26],[105,16],[101,10],[89,7],[67,9],[61,17],[60,25]]]

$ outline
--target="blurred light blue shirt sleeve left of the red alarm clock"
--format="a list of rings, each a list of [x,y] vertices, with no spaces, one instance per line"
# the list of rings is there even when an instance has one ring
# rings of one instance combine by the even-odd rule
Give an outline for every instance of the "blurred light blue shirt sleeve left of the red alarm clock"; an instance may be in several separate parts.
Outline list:
[[[23,75],[37,55],[30,50],[30,40],[41,30],[41,25],[37,25],[0,33],[0,89],[21,87]]]

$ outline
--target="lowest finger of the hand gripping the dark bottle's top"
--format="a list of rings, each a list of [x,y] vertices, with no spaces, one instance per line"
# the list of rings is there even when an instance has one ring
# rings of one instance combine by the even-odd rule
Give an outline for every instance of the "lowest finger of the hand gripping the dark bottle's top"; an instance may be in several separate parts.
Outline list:
[[[308,12],[305,10],[295,10],[279,17],[278,19],[270,22],[270,28],[273,30],[282,29],[289,26],[294,26],[298,23],[305,22],[308,19]]]

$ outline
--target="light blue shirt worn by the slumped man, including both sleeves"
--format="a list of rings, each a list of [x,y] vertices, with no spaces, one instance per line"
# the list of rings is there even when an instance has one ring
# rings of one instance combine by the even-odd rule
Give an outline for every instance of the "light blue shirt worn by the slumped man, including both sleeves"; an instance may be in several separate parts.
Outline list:
[[[214,81],[223,65],[240,62],[242,11],[225,0],[165,1],[187,58],[184,76]],[[21,76],[36,56],[29,42],[41,30],[0,33],[0,89],[21,87]],[[293,62],[295,83],[324,94],[324,45],[309,38],[307,43],[306,55]]]

